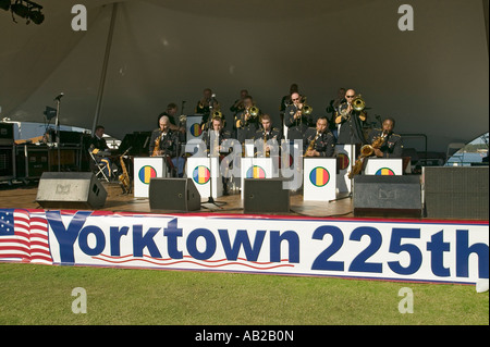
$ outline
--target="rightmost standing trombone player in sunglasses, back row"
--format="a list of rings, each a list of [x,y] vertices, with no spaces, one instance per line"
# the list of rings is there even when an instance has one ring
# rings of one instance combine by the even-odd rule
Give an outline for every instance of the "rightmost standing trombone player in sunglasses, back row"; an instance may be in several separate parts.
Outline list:
[[[347,89],[345,92],[345,100],[339,107],[339,115],[335,123],[340,125],[338,142],[342,145],[357,145],[366,144],[363,134],[362,111],[353,109],[352,101],[356,96],[354,89]]]

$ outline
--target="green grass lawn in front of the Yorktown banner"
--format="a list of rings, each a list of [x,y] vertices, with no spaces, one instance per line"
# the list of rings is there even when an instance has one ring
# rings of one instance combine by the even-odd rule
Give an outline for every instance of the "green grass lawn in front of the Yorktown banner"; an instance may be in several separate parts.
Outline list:
[[[72,312],[75,287],[87,313]],[[414,313],[399,312],[402,287]],[[475,286],[0,263],[0,324],[489,324]]]

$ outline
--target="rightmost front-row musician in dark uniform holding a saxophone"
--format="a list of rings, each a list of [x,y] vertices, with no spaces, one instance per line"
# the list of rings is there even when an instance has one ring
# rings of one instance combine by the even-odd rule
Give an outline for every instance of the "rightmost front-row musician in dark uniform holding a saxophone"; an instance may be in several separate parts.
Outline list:
[[[402,136],[393,133],[395,121],[387,117],[382,123],[382,128],[375,128],[369,133],[368,144],[372,144],[379,137],[384,138],[383,145],[375,148],[375,156],[378,158],[402,158],[403,140]]]

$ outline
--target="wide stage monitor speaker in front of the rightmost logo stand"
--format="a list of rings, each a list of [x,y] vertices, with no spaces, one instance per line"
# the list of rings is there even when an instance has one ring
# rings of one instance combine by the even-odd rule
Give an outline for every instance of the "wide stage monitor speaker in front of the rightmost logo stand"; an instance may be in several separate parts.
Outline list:
[[[419,175],[354,177],[354,215],[420,218]]]

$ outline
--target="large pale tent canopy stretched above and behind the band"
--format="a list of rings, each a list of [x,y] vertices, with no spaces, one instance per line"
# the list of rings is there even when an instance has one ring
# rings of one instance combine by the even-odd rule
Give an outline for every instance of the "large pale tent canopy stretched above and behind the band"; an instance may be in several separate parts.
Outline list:
[[[36,2],[40,25],[0,10],[1,117],[42,122],[62,91],[60,123],[91,128],[112,2]],[[86,32],[72,30],[76,3],[88,10]],[[399,29],[402,2],[392,0],[121,1],[98,123],[117,137],[151,131],[170,102],[192,114],[207,87],[229,120],[246,88],[279,122],[292,83],[318,116],[352,87],[370,121],[393,116],[397,133],[426,134],[429,150],[445,152],[489,129],[485,1],[406,3],[413,32]]]

